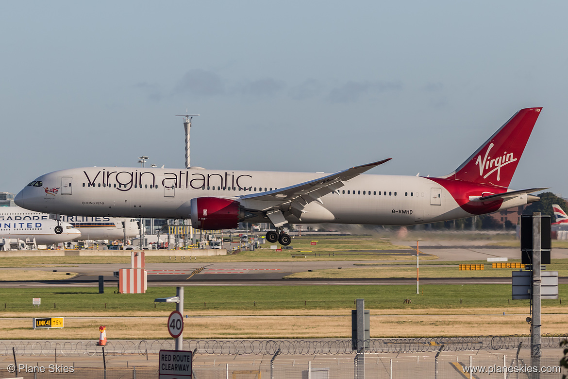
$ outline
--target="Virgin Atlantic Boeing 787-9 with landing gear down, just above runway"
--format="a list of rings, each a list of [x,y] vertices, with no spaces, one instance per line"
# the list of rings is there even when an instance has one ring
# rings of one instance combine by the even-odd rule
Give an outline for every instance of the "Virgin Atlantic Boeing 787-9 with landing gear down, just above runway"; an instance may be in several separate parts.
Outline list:
[[[441,177],[362,175],[390,159],[333,174],[90,167],[44,174],[14,202],[38,212],[186,218],[229,229],[270,222],[266,239],[290,244],[287,223],[414,225],[537,201],[540,188],[509,189],[541,108],[518,111],[456,171]]]

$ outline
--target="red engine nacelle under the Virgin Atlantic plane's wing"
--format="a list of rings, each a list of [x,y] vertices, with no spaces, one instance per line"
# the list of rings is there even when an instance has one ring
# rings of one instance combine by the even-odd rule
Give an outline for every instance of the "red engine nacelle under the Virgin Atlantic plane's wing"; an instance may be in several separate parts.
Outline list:
[[[191,199],[191,226],[197,229],[231,229],[239,226],[240,203],[219,197]]]

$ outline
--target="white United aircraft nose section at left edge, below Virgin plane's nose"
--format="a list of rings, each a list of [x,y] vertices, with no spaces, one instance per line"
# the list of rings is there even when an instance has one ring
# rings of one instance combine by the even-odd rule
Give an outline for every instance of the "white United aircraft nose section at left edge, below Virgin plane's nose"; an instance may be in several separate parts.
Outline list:
[[[12,207],[10,207],[12,208]],[[59,226],[62,231],[55,233]],[[69,223],[58,225],[55,220],[0,220],[0,239],[36,240],[38,245],[51,245],[81,238],[81,232]]]

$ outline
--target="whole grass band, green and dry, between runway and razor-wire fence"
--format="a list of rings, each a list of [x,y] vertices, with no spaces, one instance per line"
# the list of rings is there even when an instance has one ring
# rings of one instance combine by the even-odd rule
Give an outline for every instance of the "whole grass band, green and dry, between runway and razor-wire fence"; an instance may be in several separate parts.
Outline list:
[[[510,285],[227,286],[185,290],[186,339],[349,338],[357,298],[370,309],[371,337],[527,334],[528,301],[511,301]],[[146,294],[92,288],[0,289],[0,339],[168,338],[174,304],[156,303],[175,288]],[[560,285],[561,297],[568,285]],[[31,305],[32,297],[41,306]],[[412,303],[404,303],[410,299]],[[566,302],[565,302],[566,304]],[[106,307],[105,307],[106,306]],[[542,301],[544,333],[564,333],[567,306]],[[32,330],[32,317],[65,317],[65,328]],[[117,317],[118,316],[118,317]],[[129,316],[136,316],[130,319]],[[85,318],[75,318],[85,317]]]

